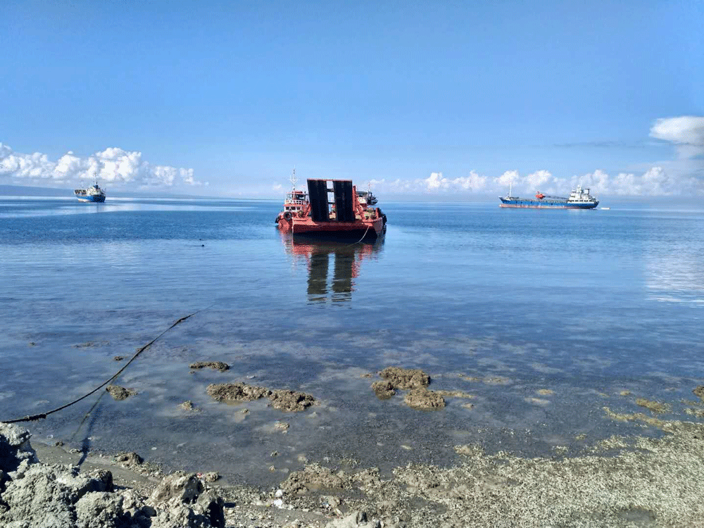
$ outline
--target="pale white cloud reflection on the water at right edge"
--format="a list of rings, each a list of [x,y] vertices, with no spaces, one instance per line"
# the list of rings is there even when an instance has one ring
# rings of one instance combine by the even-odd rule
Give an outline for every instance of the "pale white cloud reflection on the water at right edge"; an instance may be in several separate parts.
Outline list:
[[[669,303],[704,303],[704,259],[693,241],[668,241],[646,253],[648,298]]]

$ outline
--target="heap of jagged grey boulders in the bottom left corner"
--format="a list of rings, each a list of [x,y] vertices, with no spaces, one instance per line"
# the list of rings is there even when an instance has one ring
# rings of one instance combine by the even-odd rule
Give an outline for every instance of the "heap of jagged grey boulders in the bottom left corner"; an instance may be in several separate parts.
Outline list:
[[[0,526],[5,528],[225,527],[222,498],[194,474],[163,479],[146,500],[113,489],[107,470],[42,464],[22,427],[0,423]]]

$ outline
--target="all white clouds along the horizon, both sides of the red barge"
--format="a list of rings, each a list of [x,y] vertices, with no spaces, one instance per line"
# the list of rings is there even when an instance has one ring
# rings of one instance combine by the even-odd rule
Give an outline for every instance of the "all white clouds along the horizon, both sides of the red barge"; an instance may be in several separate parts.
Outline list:
[[[510,184],[517,191],[540,190],[547,194],[565,194],[577,184],[589,187],[594,194],[613,196],[704,194],[704,117],[684,115],[658,119],[650,127],[650,137],[675,146],[679,168],[673,162],[665,161],[641,171],[610,175],[597,169],[571,177],[558,177],[549,170],[537,170],[527,175],[521,175],[517,170],[505,170],[501,175],[491,177],[471,170],[468,175],[454,178],[445,177],[442,172],[432,172],[427,178],[369,180],[368,183],[387,194],[494,194],[505,193]],[[686,164],[685,170],[682,170],[682,163]],[[139,151],[111,147],[87,157],[75,156],[68,151],[57,161],[51,161],[46,154],[17,153],[0,143],[0,183],[58,186],[80,184],[94,177],[118,187],[130,184],[135,189],[208,185],[196,180],[191,168],[153,165],[142,159]],[[278,184],[272,190],[281,188]]]

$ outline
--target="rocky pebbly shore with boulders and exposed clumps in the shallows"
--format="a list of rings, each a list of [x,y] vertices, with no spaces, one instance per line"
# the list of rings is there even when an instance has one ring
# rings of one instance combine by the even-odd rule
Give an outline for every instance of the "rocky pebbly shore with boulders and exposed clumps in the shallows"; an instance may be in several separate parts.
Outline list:
[[[429,377],[422,371],[389,367],[380,376],[383,381],[372,385],[380,399],[406,390],[420,394],[429,409],[439,407],[437,398],[464,397],[429,391]],[[246,384],[213,385],[209,393],[222,401],[266,397],[272,405],[288,402],[291,411],[310,403],[303,393]],[[686,401],[685,414],[698,420],[704,416],[704,386],[693,394],[699,401]],[[622,395],[631,396],[629,391]],[[215,472],[163,474],[137,453],[79,455],[41,444],[35,451],[26,429],[0,423],[0,526],[704,526],[704,424],[662,420],[670,410],[667,403],[636,398],[634,405],[649,414],[604,407],[603,420],[631,422],[659,434],[612,436],[575,456],[565,455],[566,448],[555,449],[551,457],[524,458],[503,451],[489,454],[477,444],[458,445],[451,465],[400,465],[385,474],[354,461],[342,466],[328,460],[290,472],[271,489],[219,486]]]

